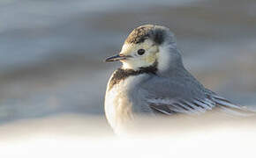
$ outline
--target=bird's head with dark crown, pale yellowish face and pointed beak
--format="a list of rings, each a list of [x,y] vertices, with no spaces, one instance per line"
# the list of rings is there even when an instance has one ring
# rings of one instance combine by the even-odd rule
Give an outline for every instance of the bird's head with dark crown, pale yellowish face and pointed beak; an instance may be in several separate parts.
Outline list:
[[[119,54],[106,61],[121,61],[124,69],[139,70],[155,66],[158,70],[181,62],[176,40],[167,27],[142,25],[134,29],[125,39]]]

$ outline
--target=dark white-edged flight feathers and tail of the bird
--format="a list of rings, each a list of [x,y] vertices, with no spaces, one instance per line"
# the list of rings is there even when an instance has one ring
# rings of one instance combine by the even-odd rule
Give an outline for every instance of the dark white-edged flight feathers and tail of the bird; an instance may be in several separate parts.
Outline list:
[[[254,111],[248,110],[245,106],[232,104],[229,100],[218,96],[214,92],[207,92],[205,98],[193,98],[190,100],[182,98],[150,98],[147,99],[147,104],[155,111],[167,115],[175,113],[203,113],[211,111],[216,107],[235,115],[248,116],[255,114]]]

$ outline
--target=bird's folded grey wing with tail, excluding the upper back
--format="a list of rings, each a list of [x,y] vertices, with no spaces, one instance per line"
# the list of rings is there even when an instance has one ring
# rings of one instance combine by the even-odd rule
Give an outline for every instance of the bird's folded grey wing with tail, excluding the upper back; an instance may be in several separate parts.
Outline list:
[[[152,82],[144,86],[145,104],[153,111],[172,115],[175,113],[203,113],[220,108],[232,114],[252,113],[243,106],[232,104],[215,92],[198,83]]]

